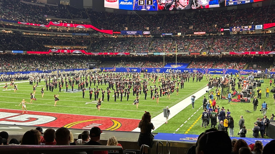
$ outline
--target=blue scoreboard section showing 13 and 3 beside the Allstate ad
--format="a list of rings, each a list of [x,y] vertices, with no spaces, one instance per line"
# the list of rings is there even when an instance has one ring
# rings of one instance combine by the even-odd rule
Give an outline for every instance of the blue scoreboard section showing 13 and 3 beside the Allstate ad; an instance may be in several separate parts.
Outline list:
[[[157,0],[135,0],[133,10],[158,11]]]

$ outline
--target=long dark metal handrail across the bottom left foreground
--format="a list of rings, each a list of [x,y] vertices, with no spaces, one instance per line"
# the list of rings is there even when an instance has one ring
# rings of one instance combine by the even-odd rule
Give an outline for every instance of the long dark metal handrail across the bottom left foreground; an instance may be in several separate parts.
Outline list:
[[[29,154],[29,153],[73,153],[117,150],[123,154],[121,146],[105,145],[1,145],[0,151],[5,154]]]

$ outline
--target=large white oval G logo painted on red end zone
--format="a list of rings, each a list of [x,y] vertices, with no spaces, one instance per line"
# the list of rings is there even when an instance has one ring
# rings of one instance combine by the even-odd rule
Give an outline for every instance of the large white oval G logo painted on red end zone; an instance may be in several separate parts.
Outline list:
[[[0,112],[0,119],[3,119],[0,121],[0,124],[6,125],[40,125],[43,123],[49,123],[56,120],[56,118],[52,116],[40,116],[8,112]]]

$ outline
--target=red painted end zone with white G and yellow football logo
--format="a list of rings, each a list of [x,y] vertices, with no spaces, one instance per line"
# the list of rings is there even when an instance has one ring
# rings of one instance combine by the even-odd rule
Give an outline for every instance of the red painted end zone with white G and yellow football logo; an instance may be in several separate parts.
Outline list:
[[[91,129],[99,127],[102,130],[132,131],[138,127],[140,120],[85,116],[75,114],[50,113],[22,110],[0,109],[0,124],[30,125],[41,127],[66,127],[76,129]]]

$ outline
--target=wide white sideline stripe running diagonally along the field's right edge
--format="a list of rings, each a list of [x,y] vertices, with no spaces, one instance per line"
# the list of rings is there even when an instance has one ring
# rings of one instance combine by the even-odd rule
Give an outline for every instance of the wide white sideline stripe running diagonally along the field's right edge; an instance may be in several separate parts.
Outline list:
[[[191,97],[193,95],[196,96],[196,98],[200,98],[206,93],[205,91],[208,91],[208,90],[210,90],[210,89],[208,89],[208,86],[206,86],[206,87],[202,88],[201,90],[197,91],[196,93],[192,94],[191,96],[180,101],[179,103],[173,105],[172,107],[169,106],[169,109],[171,110],[169,119],[173,118],[179,112],[181,112],[184,108],[189,106],[191,104]],[[198,104],[199,104],[199,106],[201,106],[202,102],[198,102],[195,100],[195,106],[198,106]],[[196,110],[194,110],[194,111],[196,111]],[[155,129],[157,129],[166,122],[166,118],[163,116],[163,112],[162,112],[159,115],[152,118],[151,121],[154,124]],[[134,130],[132,130],[132,132],[140,132],[140,128],[135,128]]]

